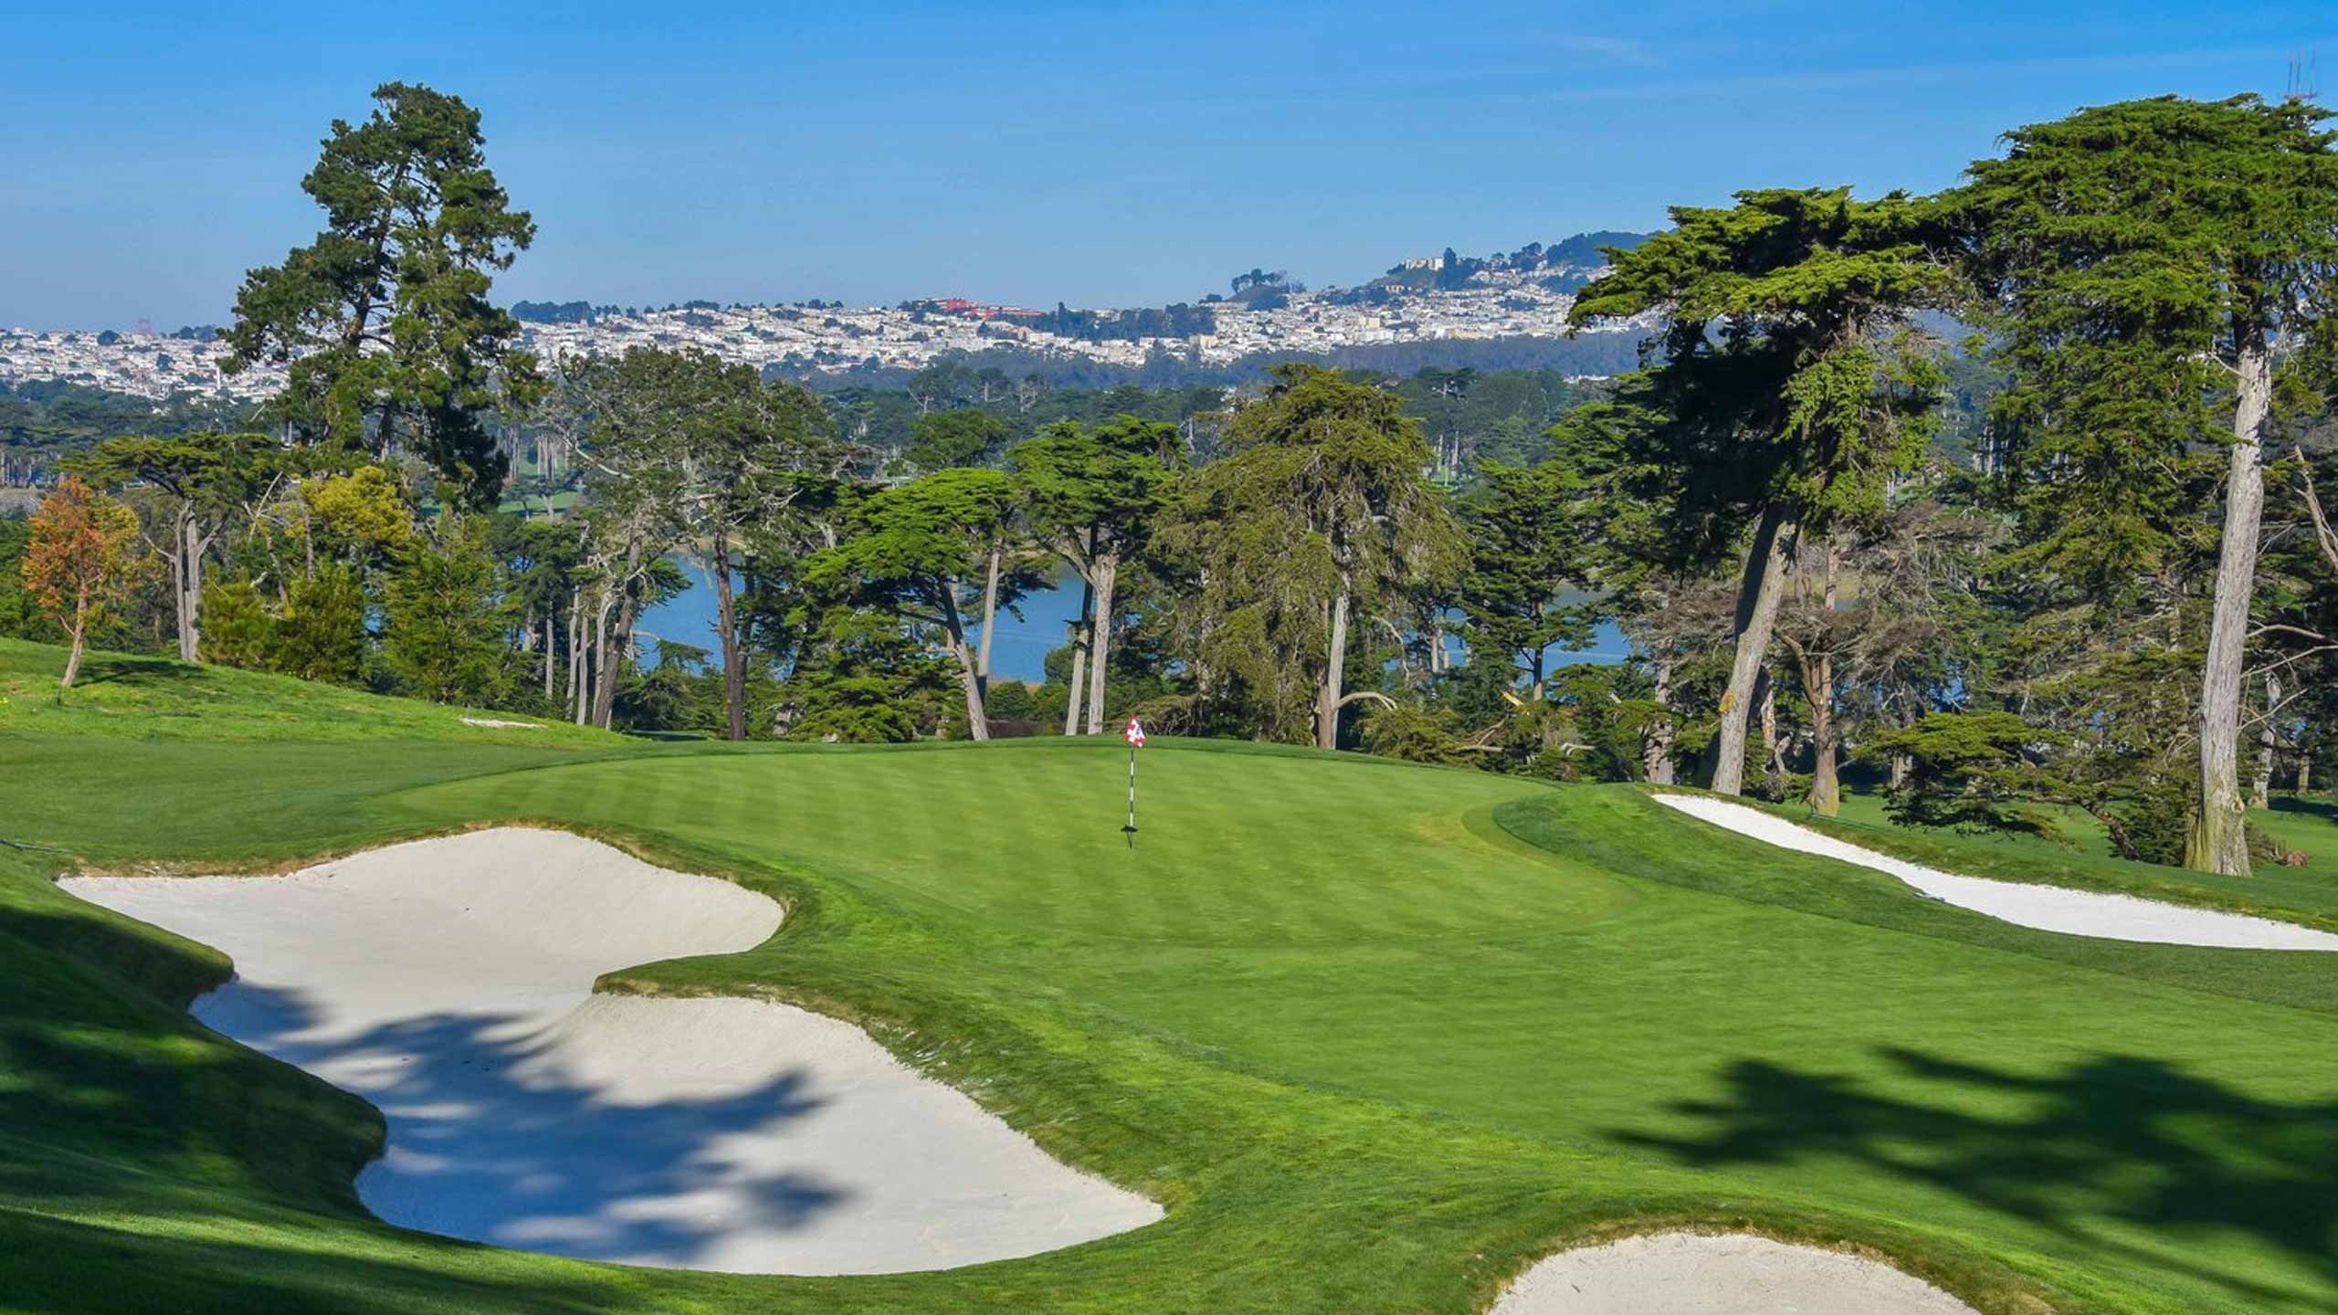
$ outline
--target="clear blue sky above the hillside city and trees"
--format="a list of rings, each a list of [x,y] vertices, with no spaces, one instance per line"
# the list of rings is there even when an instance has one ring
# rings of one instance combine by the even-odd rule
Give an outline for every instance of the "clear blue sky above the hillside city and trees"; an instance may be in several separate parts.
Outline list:
[[[507,297],[1160,304],[1737,187],[1931,190],[2013,124],[2280,94],[2329,0],[2128,5],[28,5],[0,323],[215,321],[383,80],[486,112]]]

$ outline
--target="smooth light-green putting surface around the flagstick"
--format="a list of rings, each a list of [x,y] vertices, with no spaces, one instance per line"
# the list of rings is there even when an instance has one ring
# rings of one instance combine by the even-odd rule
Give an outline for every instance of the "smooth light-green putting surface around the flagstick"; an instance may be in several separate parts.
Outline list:
[[[650,826],[1008,938],[1288,950],[1548,934],[1630,903],[1613,877],[1492,826],[1496,803],[1536,789],[1155,742],[1129,845],[1125,777],[1097,751],[1029,739],[594,763],[390,807]]]

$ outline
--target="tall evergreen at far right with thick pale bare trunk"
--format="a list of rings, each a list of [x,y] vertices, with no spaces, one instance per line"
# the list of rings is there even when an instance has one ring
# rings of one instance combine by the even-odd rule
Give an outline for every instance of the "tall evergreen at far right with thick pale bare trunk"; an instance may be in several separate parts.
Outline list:
[[[2186,861],[2247,873],[2240,718],[2284,360],[2324,365],[2338,262],[2329,110],[2160,96],[2006,133],[1952,197],[2015,381],[2006,466],[2034,557],[2118,587],[2193,512],[2188,454],[2223,447],[2223,524],[2200,672],[2200,791]]]

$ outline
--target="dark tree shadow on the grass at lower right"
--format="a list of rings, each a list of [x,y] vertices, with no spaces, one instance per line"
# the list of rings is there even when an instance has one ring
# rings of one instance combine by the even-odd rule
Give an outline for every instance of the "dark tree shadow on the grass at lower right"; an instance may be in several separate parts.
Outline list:
[[[1697,1168],[1854,1161],[2261,1301],[2326,1301],[2329,1289],[2301,1294],[2216,1268],[2202,1242],[2237,1233],[2338,1282],[2338,1102],[2266,1102],[2135,1055],[2050,1076],[1908,1048],[1882,1055],[1938,1083],[1938,1097],[1746,1060],[1728,1069],[1725,1100],[1674,1107],[1709,1121],[1704,1135],[1618,1137]],[[2025,1114],[1973,1111],[2006,1097]],[[2097,1221],[2163,1228],[2167,1245],[2135,1247]]]

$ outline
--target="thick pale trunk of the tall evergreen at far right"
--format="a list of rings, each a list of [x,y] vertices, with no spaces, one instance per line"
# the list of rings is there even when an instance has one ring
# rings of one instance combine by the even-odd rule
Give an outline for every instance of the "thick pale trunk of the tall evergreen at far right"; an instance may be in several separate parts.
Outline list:
[[[2195,873],[2249,875],[2249,826],[2240,798],[2240,683],[2256,594],[2256,541],[2266,517],[2263,428],[2273,407],[2273,360],[2261,337],[2240,344],[2240,398],[2223,491],[2223,541],[2200,667],[2200,814],[2184,845]]]

